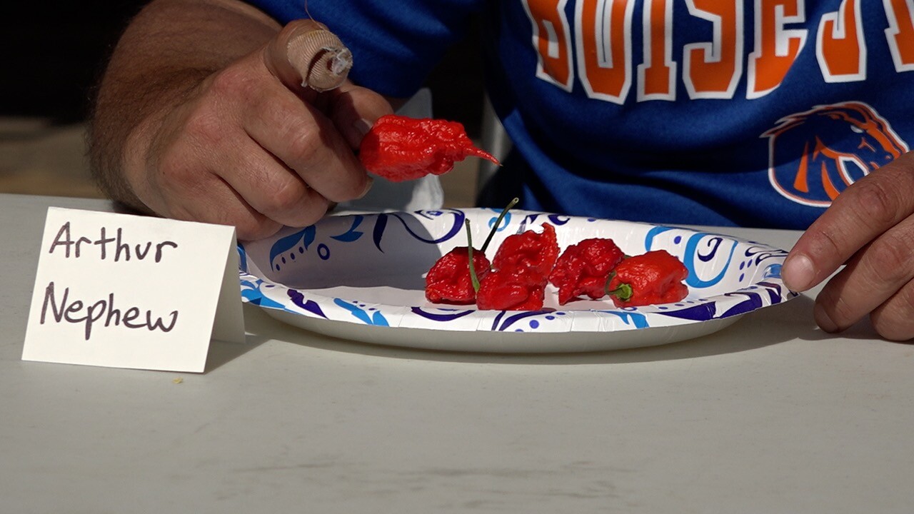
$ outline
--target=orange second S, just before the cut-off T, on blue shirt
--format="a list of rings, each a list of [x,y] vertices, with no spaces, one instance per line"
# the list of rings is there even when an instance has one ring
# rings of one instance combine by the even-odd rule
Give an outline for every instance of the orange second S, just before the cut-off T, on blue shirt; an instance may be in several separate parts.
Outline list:
[[[815,54],[826,82],[866,79],[866,43],[860,20],[860,0],[844,0],[836,13],[822,16]]]

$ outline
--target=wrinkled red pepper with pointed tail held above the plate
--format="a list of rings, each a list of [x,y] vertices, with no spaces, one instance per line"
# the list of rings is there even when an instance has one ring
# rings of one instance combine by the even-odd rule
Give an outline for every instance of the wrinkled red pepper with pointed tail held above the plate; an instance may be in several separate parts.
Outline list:
[[[378,118],[362,139],[358,155],[368,171],[394,182],[447,173],[455,161],[471,155],[498,164],[494,156],[473,146],[461,123],[397,114]]]

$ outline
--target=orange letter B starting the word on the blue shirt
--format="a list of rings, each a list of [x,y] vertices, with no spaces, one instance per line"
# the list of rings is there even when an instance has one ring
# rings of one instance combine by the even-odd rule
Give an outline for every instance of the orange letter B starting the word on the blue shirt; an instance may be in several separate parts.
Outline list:
[[[565,5],[568,0],[523,0],[533,25],[537,77],[571,91],[571,34]]]

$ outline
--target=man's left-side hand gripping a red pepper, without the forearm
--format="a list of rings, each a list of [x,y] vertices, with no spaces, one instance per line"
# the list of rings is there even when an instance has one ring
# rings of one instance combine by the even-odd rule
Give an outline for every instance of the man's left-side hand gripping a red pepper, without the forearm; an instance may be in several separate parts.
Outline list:
[[[302,85],[307,70],[296,63],[306,59],[289,43],[322,29],[294,21],[144,116],[122,150],[135,198],[168,218],[234,225],[252,240],[363,196],[371,181],[354,149],[391,107],[348,81],[322,93]]]

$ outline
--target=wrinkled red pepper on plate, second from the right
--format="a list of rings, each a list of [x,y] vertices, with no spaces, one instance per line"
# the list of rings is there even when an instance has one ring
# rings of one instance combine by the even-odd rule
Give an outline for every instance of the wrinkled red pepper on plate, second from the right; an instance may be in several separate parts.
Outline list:
[[[549,274],[549,282],[558,287],[558,305],[579,294],[594,300],[605,296],[606,282],[622,257],[622,250],[611,239],[586,239],[570,245]]]

